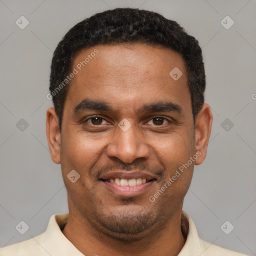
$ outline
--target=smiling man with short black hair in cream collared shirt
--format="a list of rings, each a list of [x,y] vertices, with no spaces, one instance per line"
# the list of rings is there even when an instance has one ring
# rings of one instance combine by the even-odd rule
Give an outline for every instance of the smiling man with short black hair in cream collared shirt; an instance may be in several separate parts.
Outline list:
[[[244,255],[201,240],[182,210],[210,137],[204,90],[201,49],[175,21],[116,8],[72,27],[46,114],[69,213],[0,255]]]

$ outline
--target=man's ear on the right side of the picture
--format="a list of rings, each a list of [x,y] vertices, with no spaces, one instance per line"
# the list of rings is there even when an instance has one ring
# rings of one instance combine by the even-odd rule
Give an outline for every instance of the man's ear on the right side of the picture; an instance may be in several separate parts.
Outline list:
[[[212,114],[210,106],[203,103],[201,110],[195,118],[195,152],[198,155],[195,164],[201,164],[206,157],[210,138]]]

